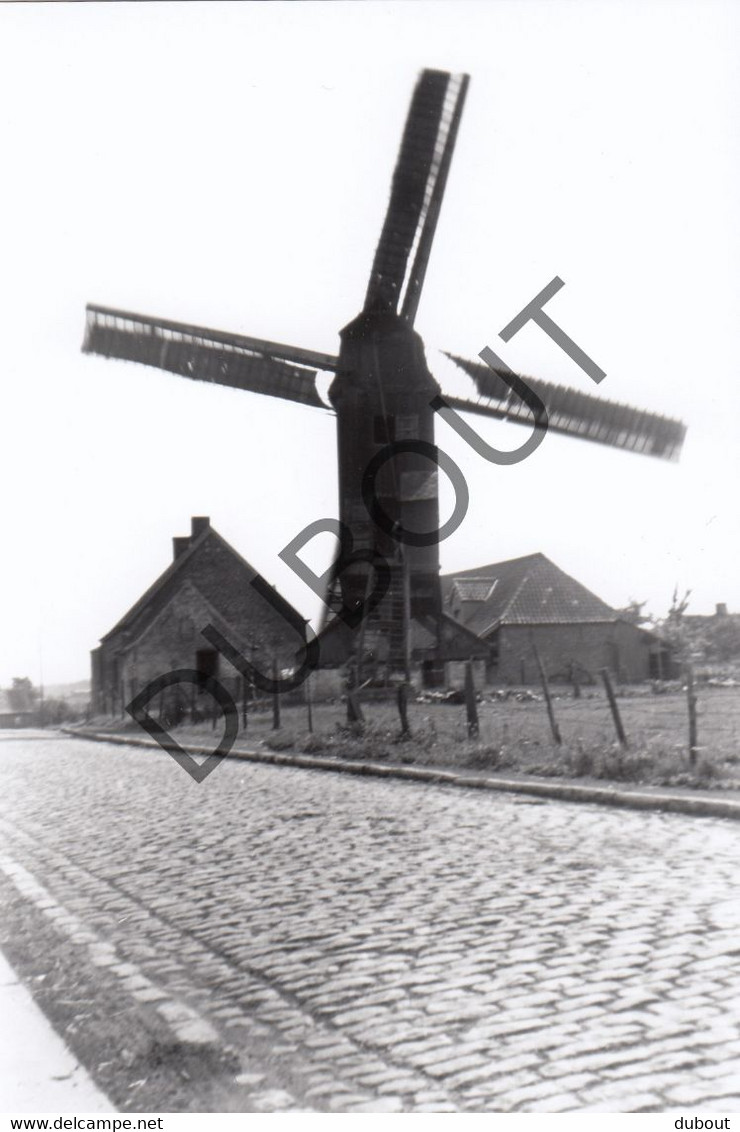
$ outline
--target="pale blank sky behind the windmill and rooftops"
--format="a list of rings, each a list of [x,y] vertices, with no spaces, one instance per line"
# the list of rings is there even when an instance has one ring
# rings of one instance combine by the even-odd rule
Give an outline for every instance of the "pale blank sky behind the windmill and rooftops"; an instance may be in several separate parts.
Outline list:
[[[423,67],[471,87],[416,320],[681,418],[678,464],[548,435],[499,468],[444,422],[471,507],[444,569],[541,550],[612,604],[740,610],[740,6],[655,0],[0,6],[0,685],[88,675],[190,515],[307,616],[278,551],[337,513],[328,413],[83,357],[87,301],[335,353]],[[480,421],[500,446],[525,437]],[[445,497],[444,497],[445,498]],[[447,500],[449,505],[449,500]],[[330,539],[312,560],[330,554]]]

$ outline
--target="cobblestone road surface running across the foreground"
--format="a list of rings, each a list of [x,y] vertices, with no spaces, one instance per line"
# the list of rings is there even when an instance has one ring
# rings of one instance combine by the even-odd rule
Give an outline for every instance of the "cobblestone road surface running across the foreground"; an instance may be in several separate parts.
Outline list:
[[[244,1110],[740,1109],[734,823],[74,738],[0,771],[8,867],[269,1063]]]

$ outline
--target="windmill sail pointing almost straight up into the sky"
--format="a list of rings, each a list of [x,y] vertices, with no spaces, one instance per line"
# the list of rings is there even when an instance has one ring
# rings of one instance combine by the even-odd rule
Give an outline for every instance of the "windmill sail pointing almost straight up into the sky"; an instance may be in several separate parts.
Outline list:
[[[466,75],[425,70],[419,77],[370,273],[365,310],[402,310],[413,323],[466,89]]]

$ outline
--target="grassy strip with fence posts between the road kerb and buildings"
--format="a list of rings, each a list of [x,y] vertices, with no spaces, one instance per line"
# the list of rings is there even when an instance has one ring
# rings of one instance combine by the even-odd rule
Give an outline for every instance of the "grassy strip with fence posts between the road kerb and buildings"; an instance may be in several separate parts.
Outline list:
[[[523,689],[524,691],[524,689]],[[686,694],[623,689],[618,697],[628,747],[620,748],[603,692],[579,700],[556,692],[554,712],[562,745],[553,743],[544,702],[510,697],[479,704],[477,740],[467,737],[465,707],[408,705],[411,738],[401,737],[393,703],[363,703],[364,727],[346,722],[344,703],[315,704],[313,730],[306,705],[282,705],[273,729],[269,704],[252,707],[240,738],[277,751],[380,760],[428,766],[471,767],[542,777],[601,779],[655,786],[740,788],[740,688],[698,688],[698,757],[688,757]],[[532,692],[525,693],[532,695]],[[220,724],[217,724],[220,727]],[[210,724],[175,735],[205,741]]]

